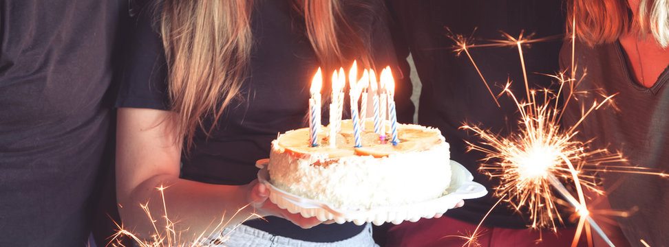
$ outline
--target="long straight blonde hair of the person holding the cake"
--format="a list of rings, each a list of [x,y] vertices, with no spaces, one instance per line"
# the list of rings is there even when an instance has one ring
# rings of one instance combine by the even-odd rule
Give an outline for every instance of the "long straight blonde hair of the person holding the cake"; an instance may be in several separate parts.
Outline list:
[[[344,55],[345,48],[358,54],[359,63],[370,65],[370,38],[347,21],[341,0],[296,0],[293,7],[304,16],[306,34],[323,67],[352,60]],[[171,110],[177,137],[185,139],[188,150],[198,128],[211,133],[248,77],[253,1],[165,0],[161,8]],[[213,117],[214,124],[204,126],[206,117]]]

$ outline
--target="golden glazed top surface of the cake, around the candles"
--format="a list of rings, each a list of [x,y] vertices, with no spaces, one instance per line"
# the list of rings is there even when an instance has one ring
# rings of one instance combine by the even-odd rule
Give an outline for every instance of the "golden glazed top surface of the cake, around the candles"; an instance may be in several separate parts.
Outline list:
[[[444,141],[439,130],[426,128],[413,124],[398,124],[397,132],[400,143],[392,145],[390,141],[381,143],[379,135],[374,133],[374,123],[365,121],[366,130],[361,132],[362,148],[354,148],[354,136],[352,121],[344,120],[341,123],[341,132],[337,134],[337,143],[330,148],[329,128],[321,127],[318,133],[320,145],[311,147],[309,142],[309,128],[301,128],[282,134],[279,137],[279,146],[287,152],[293,152],[296,156],[321,154],[329,158],[360,155],[383,157],[389,154],[403,152],[418,152],[428,150],[433,145]],[[390,140],[390,136],[386,137]]]

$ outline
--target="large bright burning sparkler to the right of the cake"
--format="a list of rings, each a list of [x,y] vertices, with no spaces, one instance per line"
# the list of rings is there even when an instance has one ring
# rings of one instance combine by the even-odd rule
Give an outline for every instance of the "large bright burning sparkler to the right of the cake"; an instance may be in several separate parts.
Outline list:
[[[603,99],[599,103],[595,101],[592,106],[582,106],[580,119],[573,126],[562,128],[563,126],[560,126],[560,119],[562,112],[564,112],[564,107],[569,103],[571,97],[575,97],[576,93],[583,93],[574,91],[580,80],[574,78],[575,66],[573,54],[570,78],[565,78],[564,73],[550,75],[560,84],[557,94],[553,94],[549,89],[531,89],[527,80],[522,46],[528,43],[548,40],[552,37],[531,40],[531,35],[523,37],[522,32],[518,38],[509,34],[502,34],[507,40],[488,40],[490,43],[482,45],[470,44],[473,38],[450,35],[456,42],[454,50],[458,55],[463,52],[467,54],[469,61],[473,64],[489,93],[493,96],[493,99],[495,99],[496,104],[500,106],[497,98],[502,94],[507,94],[516,103],[520,113],[518,132],[509,135],[509,137],[502,137],[499,134],[494,134],[490,130],[485,130],[478,126],[465,124],[461,127],[465,130],[471,130],[481,139],[480,143],[466,141],[469,145],[468,150],[476,150],[485,154],[479,170],[483,174],[487,174],[490,178],[499,178],[500,184],[493,188],[493,196],[499,198],[498,202],[483,217],[476,230],[474,230],[474,233],[457,237],[467,239],[465,243],[467,246],[476,245],[476,237],[480,234],[478,233],[478,228],[492,209],[502,201],[510,204],[516,211],[527,211],[531,222],[529,227],[552,228],[553,231],[557,231],[557,222],[562,224],[563,220],[556,207],[556,203],[562,203],[562,201],[553,194],[553,189],[555,189],[560,196],[571,204],[575,209],[575,213],[579,216],[572,246],[576,246],[584,228],[588,236],[588,241],[590,240],[592,228],[605,242],[613,246],[602,229],[599,228],[590,216],[591,212],[588,211],[586,205],[584,189],[604,194],[604,191],[597,188],[595,173],[621,172],[663,177],[668,175],[663,172],[652,171],[645,167],[608,165],[610,163],[624,163],[626,159],[619,152],[613,153],[606,149],[588,150],[586,145],[589,141],[577,141],[575,135],[582,121],[594,110],[601,108],[605,104],[610,104],[615,95],[602,95]],[[572,35],[571,38],[573,46],[575,36]],[[476,62],[474,62],[474,59],[469,54],[469,48],[473,47],[507,46],[515,46],[518,49],[526,94],[526,99],[523,101],[520,101],[511,92],[510,81],[507,81],[502,93],[494,95],[478,66],[476,66]],[[568,93],[568,97],[566,97],[564,105],[560,108],[557,102],[565,86],[568,86],[570,90],[565,91]],[[571,195],[558,178],[573,184],[573,187],[576,189],[577,198]]]

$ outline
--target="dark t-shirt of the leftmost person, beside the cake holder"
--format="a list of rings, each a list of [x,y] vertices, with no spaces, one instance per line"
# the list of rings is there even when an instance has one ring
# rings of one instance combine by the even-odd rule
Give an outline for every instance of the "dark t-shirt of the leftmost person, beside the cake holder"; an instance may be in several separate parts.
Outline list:
[[[121,5],[2,1],[0,246],[87,243],[113,151],[105,94]]]

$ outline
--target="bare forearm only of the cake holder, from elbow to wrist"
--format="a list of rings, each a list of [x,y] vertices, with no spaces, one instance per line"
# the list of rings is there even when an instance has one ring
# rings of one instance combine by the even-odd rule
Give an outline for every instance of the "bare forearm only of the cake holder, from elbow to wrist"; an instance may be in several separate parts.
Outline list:
[[[163,234],[166,224],[174,222],[174,230],[187,229],[181,233],[182,240],[191,241],[202,233],[220,230],[215,228],[221,222],[234,226],[248,220],[253,207],[235,212],[248,204],[245,198],[249,189],[250,185],[211,185],[170,175],[154,176],[125,198],[119,197],[119,211],[126,228],[134,229],[142,238],[156,234],[156,229]],[[149,209],[155,228],[142,205]]]

